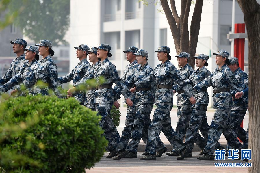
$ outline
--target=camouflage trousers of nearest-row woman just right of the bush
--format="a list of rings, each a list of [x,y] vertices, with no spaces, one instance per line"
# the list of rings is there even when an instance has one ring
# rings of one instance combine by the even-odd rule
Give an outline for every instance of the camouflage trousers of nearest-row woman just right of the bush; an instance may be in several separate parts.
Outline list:
[[[101,116],[99,125],[104,130],[105,138],[108,140],[107,150],[119,151],[125,148],[125,146],[110,116],[112,105],[113,102],[96,103],[96,111],[98,111],[98,115]]]

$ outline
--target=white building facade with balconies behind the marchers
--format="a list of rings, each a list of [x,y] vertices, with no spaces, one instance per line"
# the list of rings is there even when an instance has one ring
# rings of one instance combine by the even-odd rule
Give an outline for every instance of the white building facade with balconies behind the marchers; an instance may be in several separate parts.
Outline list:
[[[260,0],[259,0],[260,1]],[[94,2],[94,3],[93,3]],[[178,67],[174,41],[165,14],[158,12],[160,3],[154,5],[148,0],[148,6],[138,0],[71,0],[70,1],[70,70],[78,63],[74,46],[87,44],[89,47],[98,46],[100,43],[109,44],[112,57],[119,75],[128,64],[125,58],[129,46],[148,51],[148,64],[157,66],[159,46],[166,45],[171,48],[171,62]],[[180,14],[180,2],[176,1],[177,12]],[[170,2],[169,2],[170,3]],[[195,4],[191,5],[189,15],[189,28]],[[231,31],[232,0],[204,1],[202,18],[196,54],[209,55],[210,71],[217,66],[215,53],[218,50],[230,52],[231,42],[226,35]],[[244,16],[236,2],[235,23],[244,23]],[[245,40],[245,65],[248,63],[247,40]],[[196,67],[195,67],[196,68]],[[245,66],[245,71],[248,71]],[[209,96],[213,95],[212,87],[208,88]],[[176,104],[176,97],[174,104]],[[209,99],[209,107],[213,106],[213,99]]]

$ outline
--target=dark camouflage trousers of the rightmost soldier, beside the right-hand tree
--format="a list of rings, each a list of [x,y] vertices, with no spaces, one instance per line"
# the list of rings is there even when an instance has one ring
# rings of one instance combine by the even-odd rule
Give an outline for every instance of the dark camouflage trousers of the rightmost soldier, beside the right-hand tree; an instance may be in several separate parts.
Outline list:
[[[230,124],[237,137],[243,142],[246,141],[246,131],[242,127],[240,127],[240,124],[246,115],[246,110],[247,109],[231,110],[228,120],[228,123]],[[232,149],[229,142],[227,143],[227,149]]]

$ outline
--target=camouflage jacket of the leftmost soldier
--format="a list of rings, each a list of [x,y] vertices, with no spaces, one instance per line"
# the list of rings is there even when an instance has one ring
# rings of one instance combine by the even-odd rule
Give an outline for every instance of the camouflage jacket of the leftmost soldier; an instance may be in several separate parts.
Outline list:
[[[25,54],[16,57],[11,63],[10,68],[5,72],[5,75],[0,79],[0,84],[5,84],[8,82],[14,75],[18,74],[21,68],[23,67],[23,64],[27,64],[27,60],[25,59]],[[12,90],[14,90],[16,87],[13,87]]]

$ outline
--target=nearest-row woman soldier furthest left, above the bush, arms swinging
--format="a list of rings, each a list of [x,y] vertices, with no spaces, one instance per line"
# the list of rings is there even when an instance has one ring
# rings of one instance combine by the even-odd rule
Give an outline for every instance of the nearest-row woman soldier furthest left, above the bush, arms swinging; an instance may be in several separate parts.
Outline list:
[[[31,74],[11,92],[11,95],[34,85],[34,95],[49,95],[48,90],[51,88],[57,97],[66,98],[66,95],[62,93],[62,86],[58,79],[57,66],[50,56],[54,55],[54,51],[51,49],[52,42],[49,40],[41,40],[40,43],[35,44],[35,46],[39,46],[39,53],[43,58],[38,62]]]

